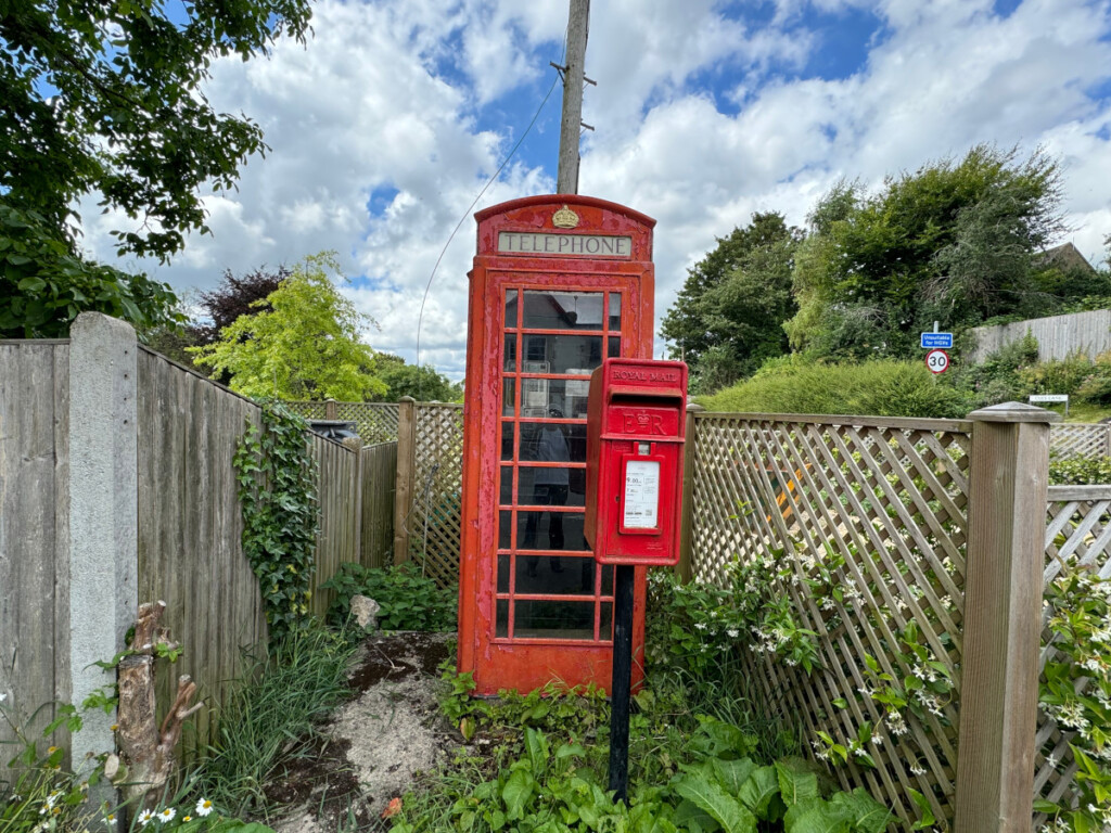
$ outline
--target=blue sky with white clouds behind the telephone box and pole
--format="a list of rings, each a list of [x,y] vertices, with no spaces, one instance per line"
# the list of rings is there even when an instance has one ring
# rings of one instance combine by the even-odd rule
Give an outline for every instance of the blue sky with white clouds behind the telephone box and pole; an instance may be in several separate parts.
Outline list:
[[[336,250],[366,340],[412,363],[419,322],[419,361],[460,379],[471,215],[556,188],[567,18],[568,0],[319,0],[306,46],[213,64],[209,100],[271,150],[206,197],[212,234],[168,265],[119,261],[127,218],[87,211],[88,253],[188,292]],[[1055,157],[1060,242],[1104,255],[1111,0],[594,0],[585,74],[579,191],[658,221],[657,332],[752,212],[802,225],[839,179],[980,142]]]

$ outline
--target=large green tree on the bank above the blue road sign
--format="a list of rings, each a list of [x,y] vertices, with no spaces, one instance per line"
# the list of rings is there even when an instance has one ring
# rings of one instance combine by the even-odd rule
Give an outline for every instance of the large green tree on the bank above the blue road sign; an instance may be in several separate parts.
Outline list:
[[[1060,171],[1042,151],[977,145],[889,178],[839,183],[798,252],[791,345],[812,355],[918,355],[917,334],[1044,308],[1032,258],[1063,230]]]

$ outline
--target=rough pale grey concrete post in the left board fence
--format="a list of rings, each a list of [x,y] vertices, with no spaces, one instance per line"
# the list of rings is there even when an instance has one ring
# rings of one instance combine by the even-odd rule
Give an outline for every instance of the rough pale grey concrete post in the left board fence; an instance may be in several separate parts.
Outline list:
[[[116,682],[111,660],[138,609],[136,332],[84,312],[70,328],[70,696],[80,706]],[[92,710],[72,737],[73,765],[114,751],[116,714]]]

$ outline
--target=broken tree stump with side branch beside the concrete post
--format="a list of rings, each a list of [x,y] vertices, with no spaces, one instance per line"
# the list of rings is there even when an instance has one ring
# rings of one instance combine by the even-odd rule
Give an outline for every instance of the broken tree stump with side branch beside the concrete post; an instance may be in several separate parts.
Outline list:
[[[177,764],[174,750],[181,739],[181,727],[203,702],[192,703],[197,683],[188,674],[178,678],[173,705],[158,725],[154,699],[154,659],[161,650],[172,651],[169,631],[159,626],[166,602],[142,604],[136,621],[134,636],[128,646],[131,653],[119,664],[119,730],[120,757],[127,766],[124,799],[132,807],[152,806],[170,780]]]

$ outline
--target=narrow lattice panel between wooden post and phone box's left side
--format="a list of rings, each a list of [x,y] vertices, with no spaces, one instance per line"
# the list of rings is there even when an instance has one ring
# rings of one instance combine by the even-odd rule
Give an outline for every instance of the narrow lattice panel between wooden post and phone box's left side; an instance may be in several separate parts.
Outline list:
[[[416,405],[410,560],[441,586],[459,581],[463,407]]]

